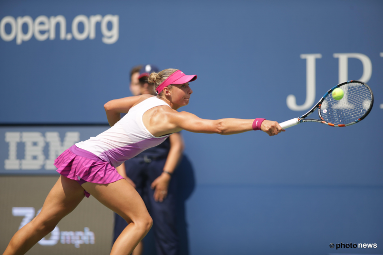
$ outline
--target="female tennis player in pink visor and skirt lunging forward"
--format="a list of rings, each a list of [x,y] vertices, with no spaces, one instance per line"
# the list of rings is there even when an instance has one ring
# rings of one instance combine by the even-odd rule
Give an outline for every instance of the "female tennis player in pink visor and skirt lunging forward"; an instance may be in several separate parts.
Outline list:
[[[131,96],[106,103],[110,129],[76,143],[55,160],[59,180],[41,212],[16,232],[3,255],[25,254],[90,194],[129,223],[110,254],[130,254],[150,230],[152,218],[137,191],[115,167],[181,130],[221,135],[261,130],[269,136],[284,131],[277,122],[260,118],[207,120],[178,112],[189,103],[193,91],[188,83],[196,79],[197,75],[165,69],[151,73],[148,80],[157,96]],[[127,114],[121,119],[120,113]]]

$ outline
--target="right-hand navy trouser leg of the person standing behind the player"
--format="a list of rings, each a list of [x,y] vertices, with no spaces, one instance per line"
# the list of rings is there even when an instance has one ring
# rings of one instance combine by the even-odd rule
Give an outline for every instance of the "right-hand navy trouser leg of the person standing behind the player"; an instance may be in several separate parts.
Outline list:
[[[176,176],[172,176],[166,198],[162,202],[154,200],[151,183],[162,174],[166,159],[154,160],[149,165],[147,183],[148,201],[153,217],[153,230],[157,255],[176,255],[179,250],[179,237],[176,227]]]

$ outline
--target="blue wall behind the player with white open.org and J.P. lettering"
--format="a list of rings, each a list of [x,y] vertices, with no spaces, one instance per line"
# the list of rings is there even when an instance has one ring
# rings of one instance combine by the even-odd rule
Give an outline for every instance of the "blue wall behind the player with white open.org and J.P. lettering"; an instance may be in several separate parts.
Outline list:
[[[189,249],[383,253],[382,10],[381,1],[2,1],[0,122],[106,122],[103,105],[130,96],[130,68],[145,63],[197,74],[182,111],[209,119],[282,122],[361,79],[374,108],[345,129],[183,132],[196,176]],[[329,247],[341,242],[377,248]]]

